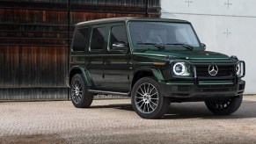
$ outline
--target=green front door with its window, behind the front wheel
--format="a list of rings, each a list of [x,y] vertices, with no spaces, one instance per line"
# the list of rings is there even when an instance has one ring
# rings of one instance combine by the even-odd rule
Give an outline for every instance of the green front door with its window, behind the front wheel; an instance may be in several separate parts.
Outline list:
[[[124,24],[114,24],[109,28],[109,42],[104,58],[104,87],[108,91],[129,91],[129,54],[127,50],[113,49],[113,44],[128,46],[128,36]]]

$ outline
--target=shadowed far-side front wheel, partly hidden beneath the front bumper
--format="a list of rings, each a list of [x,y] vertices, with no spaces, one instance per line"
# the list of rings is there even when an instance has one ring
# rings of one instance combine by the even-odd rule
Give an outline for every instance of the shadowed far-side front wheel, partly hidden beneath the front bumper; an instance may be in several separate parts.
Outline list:
[[[216,115],[230,115],[236,112],[243,101],[243,95],[238,97],[217,97],[205,100],[210,112]]]

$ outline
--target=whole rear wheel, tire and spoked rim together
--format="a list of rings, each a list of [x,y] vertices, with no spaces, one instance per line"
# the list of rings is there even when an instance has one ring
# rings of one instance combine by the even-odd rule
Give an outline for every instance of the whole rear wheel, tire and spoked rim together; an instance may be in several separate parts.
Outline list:
[[[93,100],[93,95],[88,91],[88,86],[81,74],[72,77],[69,94],[72,103],[77,108],[87,108]]]

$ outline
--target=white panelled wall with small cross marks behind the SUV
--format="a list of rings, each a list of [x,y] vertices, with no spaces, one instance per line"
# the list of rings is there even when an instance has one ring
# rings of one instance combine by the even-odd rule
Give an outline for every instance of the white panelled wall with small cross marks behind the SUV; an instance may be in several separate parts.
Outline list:
[[[245,93],[256,94],[256,1],[189,0],[189,5],[187,1],[162,0],[161,17],[190,21],[207,50],[244,60]]]

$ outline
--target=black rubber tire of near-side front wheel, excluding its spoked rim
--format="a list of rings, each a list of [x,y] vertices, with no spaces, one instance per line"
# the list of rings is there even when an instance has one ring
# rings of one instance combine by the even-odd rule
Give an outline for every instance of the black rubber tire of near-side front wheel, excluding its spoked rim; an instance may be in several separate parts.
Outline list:
[[[136,104],[135,104],[136,90],[143,83],[150,83],[150,84],[154,85],[157,89],[157,92],[158,92],[159,100],[158,100],[157,108],[155,109],[154,112],[151,112],[151,113],[140,112],[137,109]],[[170,102],[169,102],[168,98],[164,97],[162,95],[162,91],[160,89],[160,86],[153,77],[143,77],[142,79],[138,80],[135,83],[134,87],[133,87],[131,97],[132,97],[131,98],[131,103],[132,103],[133,109],[143,119],[159,119],[159,118],[162,118],[165,115],[165,112],[168,111],[169,106],[170,106]]]

